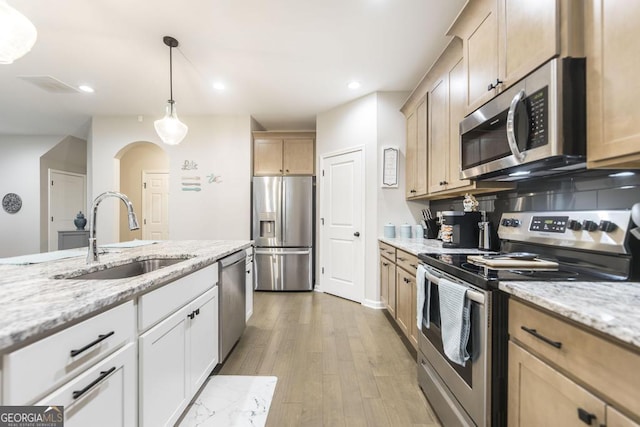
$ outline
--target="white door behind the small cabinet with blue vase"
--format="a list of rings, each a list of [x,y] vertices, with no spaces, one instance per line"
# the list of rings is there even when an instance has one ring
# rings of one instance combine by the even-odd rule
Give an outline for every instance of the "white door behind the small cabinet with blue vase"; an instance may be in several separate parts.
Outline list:
[[[49,250],[58,250],[58,231],[75,230],[73,220],[82,211],[89,222],[86,175],[49,169]]]

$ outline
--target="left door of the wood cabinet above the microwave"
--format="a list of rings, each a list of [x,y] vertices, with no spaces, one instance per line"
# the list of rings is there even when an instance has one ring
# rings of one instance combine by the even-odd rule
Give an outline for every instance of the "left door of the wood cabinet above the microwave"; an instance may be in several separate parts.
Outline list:
[[[473,7],[463,36],[469,113],[496,94],[488,86],[498,79],[497,0],[481,0]]]

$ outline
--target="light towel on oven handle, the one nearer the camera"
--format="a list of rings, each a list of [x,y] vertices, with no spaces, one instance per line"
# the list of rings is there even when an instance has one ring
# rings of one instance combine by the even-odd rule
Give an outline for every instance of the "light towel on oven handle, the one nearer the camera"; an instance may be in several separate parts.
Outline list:
[[[438,281],[442,347],[449,360],[462,366],[469,359],[467,342],[471,330],[471,302],[466,294],[465,286],[445,278]]]

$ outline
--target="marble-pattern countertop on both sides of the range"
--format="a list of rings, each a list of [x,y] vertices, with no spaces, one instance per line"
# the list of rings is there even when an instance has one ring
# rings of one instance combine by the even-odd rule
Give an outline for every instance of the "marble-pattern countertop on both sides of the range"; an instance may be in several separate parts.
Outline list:
[[[445,249],[438,240],[385,237],[379,240],[414,255],[421,252],[480,252],[477,249]],[[640,283],[503,281],[499,288],[640,349]]]

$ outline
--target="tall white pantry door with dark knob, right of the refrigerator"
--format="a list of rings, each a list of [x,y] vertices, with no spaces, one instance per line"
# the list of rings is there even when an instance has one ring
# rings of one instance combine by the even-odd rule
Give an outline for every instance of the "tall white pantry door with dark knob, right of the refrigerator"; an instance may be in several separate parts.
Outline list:
[[[320,283],[324,292],[364,299],[362,150],[323,156]]]

